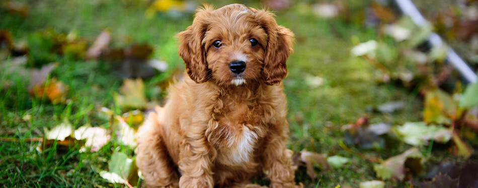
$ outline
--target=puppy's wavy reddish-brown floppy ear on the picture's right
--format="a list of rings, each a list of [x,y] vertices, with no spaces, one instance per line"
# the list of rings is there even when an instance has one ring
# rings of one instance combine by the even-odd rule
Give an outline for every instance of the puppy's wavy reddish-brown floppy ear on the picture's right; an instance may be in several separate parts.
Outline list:
[[[285,62],[292,52],[294,33],[277,25],[274,14],[257,11],[256,20],[267,33],[267,47],[264,55],[262,78],[267,85],[278,84],[287,75]]]

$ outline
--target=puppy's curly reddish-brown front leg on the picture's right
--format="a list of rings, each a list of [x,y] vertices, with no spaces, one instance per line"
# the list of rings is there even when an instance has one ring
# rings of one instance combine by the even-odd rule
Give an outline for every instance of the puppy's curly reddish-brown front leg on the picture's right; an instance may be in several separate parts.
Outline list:
[[[285,123],[287,123],[285,121]],[[277,127],[276,127],[277,128]],[[283,126],[287,129],[287,126]],[[266,141],[263,153],[264,170],[271,180],[270,187],[301,187],[295,185],[292,151],[285,148],[288,130],[275,130]]]

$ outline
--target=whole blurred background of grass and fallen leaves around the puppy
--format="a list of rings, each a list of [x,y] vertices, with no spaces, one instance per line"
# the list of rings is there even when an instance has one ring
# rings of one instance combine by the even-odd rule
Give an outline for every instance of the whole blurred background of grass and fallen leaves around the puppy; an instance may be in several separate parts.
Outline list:
[[[267,7],[295,33],[283,84],[297,182],[478,186],[476,76],[448,58],[477,71],[475,0],[415,0],[418,25],[392,0],[3,0],[0,185],[142,186],[134,133],[182,78],[175,35],[203,3]]]

